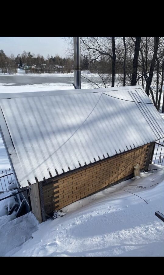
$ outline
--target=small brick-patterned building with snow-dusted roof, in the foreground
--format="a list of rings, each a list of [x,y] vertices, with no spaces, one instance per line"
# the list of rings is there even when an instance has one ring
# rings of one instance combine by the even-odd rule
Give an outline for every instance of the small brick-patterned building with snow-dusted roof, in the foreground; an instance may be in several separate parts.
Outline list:
[[[141,86],[0,94],[2,138],[39,222],[147,171],[164,121]]]

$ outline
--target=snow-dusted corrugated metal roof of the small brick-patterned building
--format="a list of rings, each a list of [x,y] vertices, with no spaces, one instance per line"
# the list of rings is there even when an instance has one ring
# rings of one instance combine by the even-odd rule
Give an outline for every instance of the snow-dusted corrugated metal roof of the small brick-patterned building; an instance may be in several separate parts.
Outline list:
[[[11,97],[0,96],[9,133],[0,124],[21,186],[164,138],[154,105],[131,102],[151,103],[140,86]]]

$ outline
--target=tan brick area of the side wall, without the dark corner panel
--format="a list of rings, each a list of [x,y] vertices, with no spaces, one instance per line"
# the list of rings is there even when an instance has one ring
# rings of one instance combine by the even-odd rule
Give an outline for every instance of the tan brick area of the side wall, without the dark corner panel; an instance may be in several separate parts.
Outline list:
[[[139,164],[141,169],[144,168],[148,149],[149,144],[131,152],[125,152],[119,156],[101,160],[97,164],[76,173],[72,172],[72,174],[60,178],[56,183],[52,181],[52,187],[58,186],[58,188],[54,189],[54,192],[59,191],[59,193],[54,194],[54,196],[59,196],[57,199],[59,200],[58,209],[97,192],[127,175],[133,174],[133,166],[136,164]],[[47,189],[51,189],[51,185],[49,183],[43,188],[45,200],[49,198]],[[47,202],[46,209],[49,209],[48,207],[49,203]]]

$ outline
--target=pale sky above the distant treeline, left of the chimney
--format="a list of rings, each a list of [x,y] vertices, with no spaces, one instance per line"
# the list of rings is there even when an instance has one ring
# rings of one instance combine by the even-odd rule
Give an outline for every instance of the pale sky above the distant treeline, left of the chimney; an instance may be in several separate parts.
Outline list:
[[[20,53],[31,52],[43,54],[46,58],[58,53],[66,57],[67,44],[63,37],[0,37],[0,50],[6,55],[13,53],[15,57]]]

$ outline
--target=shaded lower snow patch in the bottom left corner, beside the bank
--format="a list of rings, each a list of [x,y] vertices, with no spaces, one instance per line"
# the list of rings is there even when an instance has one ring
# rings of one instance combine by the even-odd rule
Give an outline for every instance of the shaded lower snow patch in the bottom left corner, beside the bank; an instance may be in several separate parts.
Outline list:
[[[10,195],[11,191],[2,194],[0,199]],[[39,222],[32,212],[19,218],[16,218],[16,211],[9,215],[17,204],[14,196],[0,201],[0,256],[15,248],[19,250],[19,246],[30,239],[31,233],[38,229]]]

